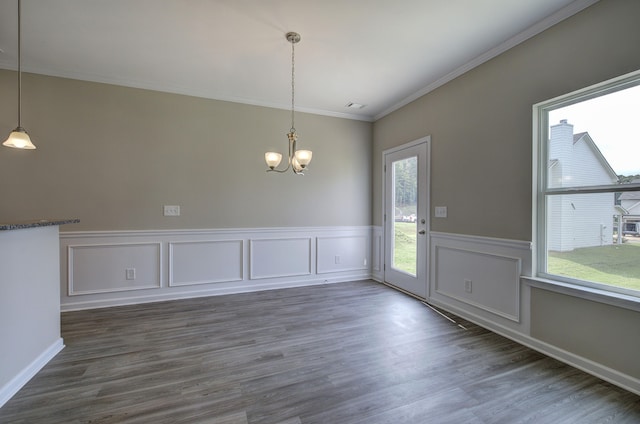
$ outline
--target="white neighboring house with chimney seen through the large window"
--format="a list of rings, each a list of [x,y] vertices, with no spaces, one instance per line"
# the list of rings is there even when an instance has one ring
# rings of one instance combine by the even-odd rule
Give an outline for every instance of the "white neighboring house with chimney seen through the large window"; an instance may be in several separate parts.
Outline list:
[[[587,132],[574,134],[566,119],[551,126],[549,186],[580,187],[616,183],[618,176]],[[547,249],[571,251],[613,243],[613,193],[553,196],[548,209]]]

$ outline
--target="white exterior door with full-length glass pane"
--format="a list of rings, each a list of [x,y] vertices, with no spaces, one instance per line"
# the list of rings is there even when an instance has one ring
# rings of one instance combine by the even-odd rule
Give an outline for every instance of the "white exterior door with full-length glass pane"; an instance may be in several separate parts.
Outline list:
[[[430,137],[384,152],[384,280],[427,297]]]

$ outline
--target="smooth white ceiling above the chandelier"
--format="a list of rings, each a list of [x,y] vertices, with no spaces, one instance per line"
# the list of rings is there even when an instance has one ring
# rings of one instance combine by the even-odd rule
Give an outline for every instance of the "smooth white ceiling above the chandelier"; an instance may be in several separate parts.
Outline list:
[[[296,31],[296,110],[373,121],[596,1],[23,0],[22,70],[286,109]]]

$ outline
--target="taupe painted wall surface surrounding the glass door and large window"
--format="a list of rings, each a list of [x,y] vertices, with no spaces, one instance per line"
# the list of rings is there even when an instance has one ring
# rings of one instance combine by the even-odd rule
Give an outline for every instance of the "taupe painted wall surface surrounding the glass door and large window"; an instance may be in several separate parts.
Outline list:
[[[640,69],[638,17],[640,1],[602,0],[377,121],[374,224],[382,151],[431,135],[431,205],[448,206],[431,229],[531,240],[532,106]],[[531,336],[640,378],[640,313],[532,291]]]

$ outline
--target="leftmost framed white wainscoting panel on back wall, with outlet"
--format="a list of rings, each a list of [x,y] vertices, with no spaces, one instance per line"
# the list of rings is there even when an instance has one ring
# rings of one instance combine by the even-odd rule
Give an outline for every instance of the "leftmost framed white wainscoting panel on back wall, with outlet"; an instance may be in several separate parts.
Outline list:
[[[69,296],[160,288],[161,253],[160,243],[68,246]]]

